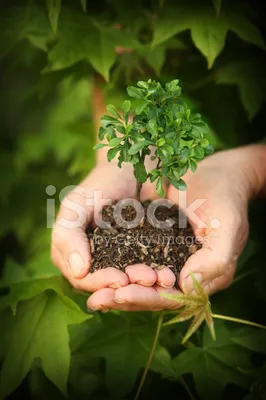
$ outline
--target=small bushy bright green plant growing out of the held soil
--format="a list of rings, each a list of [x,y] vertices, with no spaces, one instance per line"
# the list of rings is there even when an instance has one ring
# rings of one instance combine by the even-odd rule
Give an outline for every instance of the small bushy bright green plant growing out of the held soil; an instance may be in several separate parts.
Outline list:
[[[144,182],[156,182],[156,191],[163,197],[163,178],[178,190],[186,189],[182,180],[188,169],[197,164],[213,147],[206,137],[209,128],[200,114],[193,114],[181,96],[175,79],[165,84],[149,79],[129,86],[127,93],[134,98],[122,104],[122,115],[112,104],[110,115],[101,118],[99,139],[108,143],[96,144],[94,149],[110,147],[108,161],[118,156],[118,166],[130,162],[137,180],[137,198]],[[132,115],[133,118],[129,118]],[[156,160],[156,167],[146,170],[145,158]]]

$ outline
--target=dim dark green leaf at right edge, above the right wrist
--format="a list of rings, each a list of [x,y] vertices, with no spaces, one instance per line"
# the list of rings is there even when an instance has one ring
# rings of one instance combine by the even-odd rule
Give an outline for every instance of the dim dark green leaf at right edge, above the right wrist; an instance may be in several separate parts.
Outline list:
[[[221,68],[217,83],[237,85],[242,104],[252,119],[261,109],[266,97],[264,67],[253,61],[238,61]]]

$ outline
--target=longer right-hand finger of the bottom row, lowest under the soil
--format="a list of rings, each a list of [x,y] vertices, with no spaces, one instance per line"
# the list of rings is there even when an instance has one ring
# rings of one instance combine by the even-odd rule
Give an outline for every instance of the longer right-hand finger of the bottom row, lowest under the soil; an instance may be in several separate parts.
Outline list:
[[[130,284],[115,291],[114,300],[118,304],[129,304],[137,306],[139,310],[158,311],[165,308],[176,309],[179,304],[161,296],[162,293],[177,294],[177,289],[165,289],[160,286],[144,287],[142,285]]]

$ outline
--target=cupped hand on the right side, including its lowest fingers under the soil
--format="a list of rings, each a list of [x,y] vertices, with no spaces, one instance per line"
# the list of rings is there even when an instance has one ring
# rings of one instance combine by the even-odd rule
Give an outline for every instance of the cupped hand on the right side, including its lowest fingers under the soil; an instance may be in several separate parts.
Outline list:
[[[251,197],[250,177],[241,168],[245,165],[244,155],[241,150],[235,152],[217,153],[199,163],[196,173],[187,173],[187,204],[181,201],[180,192],[173,186],[168,189],[167,197],[183,208],[195,235],[203,242],[202,249],[187,260],[180,273],[179,287],[186,293],[193,290],[191,272],[208,293],[228,287],[233,280],[237,259],[248,236],[247,204]],[[201,206],[197,208],[194,201]],[[89,298],[88,307],[125,311],[179,307],[178,303],[161,296],[161,292],[178,292],[173,287],[175,277],[169,269],[158,271],[157,278],[150,269],[150,287],[139,284],[138,271],[135,266],[128,267],[129,284],[117,290],[97,291]],[[158,285],[159,281],[164,284]]]

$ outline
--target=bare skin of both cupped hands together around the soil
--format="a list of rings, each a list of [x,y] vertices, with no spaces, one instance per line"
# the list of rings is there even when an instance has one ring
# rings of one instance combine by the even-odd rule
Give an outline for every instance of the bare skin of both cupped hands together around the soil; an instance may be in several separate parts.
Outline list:
[[[98,124],[102,99],[95,93],[95,119]],[[101,104],[100,104],[101,105]],[[98,115],[98,114],[100,115]],[[147,165],[149,168],[149,165]],[[222,290],[232,282],[236,263],[248,236],[247,206],[250,199],[265,192],[266,146],[253,145],[216,153],[198,165],[196,173],[188,172],[188,205],[196,199],[206,199],[195,214],[207,225],[193,225],[196,236],[207,237],[202,249],[186,262],[179,277],[183,292],[191,292],[192,271],[208,293]],[[162,297],[161,292],[177,293],[175,276],[169,268],[156,271],[146,265],[128,266],[125,272],[115,268],[90,273],[91,255],[85,234],[93,224],[93,208],[85,204],[94,191],[102,191],[103,198],[120,200],[135,196],[136,181],[131,165],[117,167],[116,160],[106,161],[105,149],[97,152],[96,167],[81,182],[84,193],[70,193],[66,199],[85,209],[85,221],[79,228],[63,228],[61,218],[75,221],[77,214],[62,202],[52,234],[52,259],[62,274],[77,289],[93,293],[88,299],[91,310],[161,310],[175,309],[179,305]],[[263,193],[264,194],[264,193]],[[141,200],[157,198],[154,184],[143,185]],[[179,203],[178,191],[170,186],[167,198]],[[211,223],[215,220],[215,228]],[[219,227],[217,226],[217,221]]]

